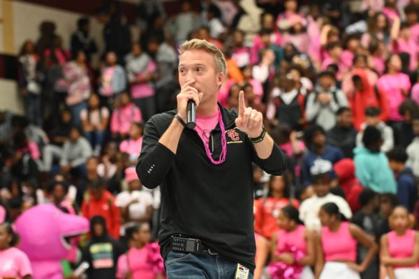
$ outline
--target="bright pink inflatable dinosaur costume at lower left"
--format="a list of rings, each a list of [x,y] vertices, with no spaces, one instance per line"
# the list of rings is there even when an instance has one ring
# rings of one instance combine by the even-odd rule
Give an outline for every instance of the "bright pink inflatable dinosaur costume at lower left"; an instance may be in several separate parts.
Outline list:
[[[52,204],[34,206],[15,223],[19,248],[31,261],[33,279],[63,279],[60,261],[66,259],[71,244],[66,238],[89,232],[86,218],[64,213]]]

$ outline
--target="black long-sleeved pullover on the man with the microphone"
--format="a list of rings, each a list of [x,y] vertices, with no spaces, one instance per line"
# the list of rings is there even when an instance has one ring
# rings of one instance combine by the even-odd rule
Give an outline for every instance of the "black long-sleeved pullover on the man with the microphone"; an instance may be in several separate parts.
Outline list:
[[[252,162],[270,174],[286,169],[286,156],[274,144],[269,158],[258,158],[249,137],[235,126],[236,112],[221,107],[226,127],[227,154],[221,165],[213,165],[195,130],[185,128],[174,154],[159,139],[176,110],[156,114],[145,124],[137,174],[147,188],[161,185],[161,229],[159,241],[164,259],[170,251],[170,236],[200,239],[226,259],[255,268],[253,232]],[[212,130],[214,160],[221,153],[221,129]]]

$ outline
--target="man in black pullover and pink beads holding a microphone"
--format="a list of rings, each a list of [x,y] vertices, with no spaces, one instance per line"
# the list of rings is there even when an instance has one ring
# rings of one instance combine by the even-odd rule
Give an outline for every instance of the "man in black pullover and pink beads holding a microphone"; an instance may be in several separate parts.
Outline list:
[[[159,241],[169,279],[253,278],[252,162],[280,175],[286,156],[263,127],[260,112],[217,103],[226,60],[206,40],[179,48],[177,110],[145,125],[137,173],[143,185],[161,185]],[[196,127],[185,127],[189,100]]]

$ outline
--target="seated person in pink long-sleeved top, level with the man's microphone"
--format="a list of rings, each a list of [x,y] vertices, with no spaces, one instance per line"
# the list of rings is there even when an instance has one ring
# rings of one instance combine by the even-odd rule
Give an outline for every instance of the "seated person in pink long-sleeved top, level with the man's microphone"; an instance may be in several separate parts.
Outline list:
[[[121,93],[119,107],[113,110],[110,119],[110,132],[113,137],[126,137],[131,123],[141,122],[142,115],[138,107],[131,102],[128,93]]]

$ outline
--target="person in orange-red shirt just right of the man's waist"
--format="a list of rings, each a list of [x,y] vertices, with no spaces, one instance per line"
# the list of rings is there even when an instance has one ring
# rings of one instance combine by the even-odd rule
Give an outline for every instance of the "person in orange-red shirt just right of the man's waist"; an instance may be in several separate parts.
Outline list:
[[[279,230],[277,222],[280,209],[287,205],[298,208],[296,199],[290,198],[289,179],[290,174],[283,176],[271,176],[267,197],[257,199],[255,202],[255,232],[271,239]]]

